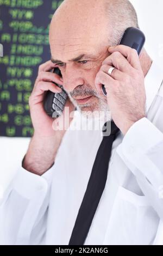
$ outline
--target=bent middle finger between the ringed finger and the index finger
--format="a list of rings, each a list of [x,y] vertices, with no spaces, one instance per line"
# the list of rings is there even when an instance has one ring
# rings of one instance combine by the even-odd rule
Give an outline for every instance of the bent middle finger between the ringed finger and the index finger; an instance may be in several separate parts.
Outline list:
[[[134,71],[134,68],[129,64],[128,60],[120,53],[114,52],[108,58],[106,58],[102,65],[114,66],[117,70],[124,72],[128,75]]]

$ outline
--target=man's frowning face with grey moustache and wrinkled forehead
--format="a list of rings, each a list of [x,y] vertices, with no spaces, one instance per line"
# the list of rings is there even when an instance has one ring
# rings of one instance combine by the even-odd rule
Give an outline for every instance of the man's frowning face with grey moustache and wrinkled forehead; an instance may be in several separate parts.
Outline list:
[[[52,60],[61,71],[63,87],[82,111],[106,110],[106,97],[97,93],[95,78],[103,60],[109,56],[107,34],[95,15],[87,22],[79,17],[71,20],[70,13],[65,16],[60,14],[59,19],[52,20],[49,33]]]

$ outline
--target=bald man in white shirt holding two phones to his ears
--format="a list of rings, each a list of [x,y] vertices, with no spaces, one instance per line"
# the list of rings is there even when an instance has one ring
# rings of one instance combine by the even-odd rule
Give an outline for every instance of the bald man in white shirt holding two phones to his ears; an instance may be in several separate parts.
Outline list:
[[[43,110],[45,91],[60,92],[52,81],[72,99],[66,103],[70,112],[75,106],[109,109],[120,129],[84,244],[163,243],[163,75],[145,49],[139,59],[135,50],[116,46],[128,27],[138,24],[127,0],[65,0],[55,12],[53,63],[40,66],[29,99],[34,136],[2,201],[2,244],[68,245],[102,142],[100,131],[52,129],[57,119]],[[47,72],[54,67],[62,80]],[[111,67],[116,69],[109,75]]]

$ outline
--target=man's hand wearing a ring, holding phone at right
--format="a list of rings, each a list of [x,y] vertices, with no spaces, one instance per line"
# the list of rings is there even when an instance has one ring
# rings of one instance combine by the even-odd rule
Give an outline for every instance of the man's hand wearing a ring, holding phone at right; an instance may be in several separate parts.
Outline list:
[[[118,45],[108,51],[110,56],[103,61],[95,85],[99,94],[102,94],[102,84],[105,85],[111,117],[126,135],[136,121],[146,117],[144,74],[136,50]],[[110,76],[111,67],[116,69]]]

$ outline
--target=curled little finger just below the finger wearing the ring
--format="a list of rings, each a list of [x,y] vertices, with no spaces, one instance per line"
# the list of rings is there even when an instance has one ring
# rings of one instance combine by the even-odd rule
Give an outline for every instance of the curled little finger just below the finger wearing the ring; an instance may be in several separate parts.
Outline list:
[[[97,92],[99,93],[99,95],[103,95],[103,92],[102,92],[103,84],[104,84],[104,86],[109,87],[111,84],[114,84],[115,81],[116,80],[114,80],[114,78],[107,75],[105,72],[99,71],[95,78],[95,86],[96,86],[96,89],[97,89]]]

